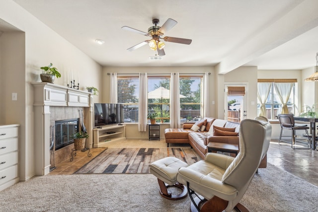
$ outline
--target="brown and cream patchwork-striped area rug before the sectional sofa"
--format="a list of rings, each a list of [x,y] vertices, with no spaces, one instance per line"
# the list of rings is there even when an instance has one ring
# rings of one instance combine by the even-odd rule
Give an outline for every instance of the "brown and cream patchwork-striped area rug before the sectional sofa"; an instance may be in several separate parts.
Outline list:
[[[201,160],[190,147],[180,148],[108,148],[74,174],[148,174],[149,164],[174,156],[189,165]]]

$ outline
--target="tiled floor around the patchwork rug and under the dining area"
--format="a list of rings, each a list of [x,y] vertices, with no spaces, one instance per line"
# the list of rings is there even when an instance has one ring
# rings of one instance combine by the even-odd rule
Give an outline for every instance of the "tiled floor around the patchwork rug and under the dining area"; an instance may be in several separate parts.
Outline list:
[[[188,144],[171,143],[169,147],[184,146]],[[107,147],[166,147],[164,140],[124,140],[107,143]],[[50,174],[73,174],[81,166],[89,162],[105,148],[90,149],[91,157],[88,157],[87,151],[77,151],[73,161],[63,161],[55,164],[56,168]],[[71,158],[71,155],[70,155]],[[267,162],[288,171],[316,186],[318,186],[318,151],[312,149],[292,149],[289,144],[278,144],[277,140],[272,140],[267,152]],[[279,176],[277,176],[279,178]]]

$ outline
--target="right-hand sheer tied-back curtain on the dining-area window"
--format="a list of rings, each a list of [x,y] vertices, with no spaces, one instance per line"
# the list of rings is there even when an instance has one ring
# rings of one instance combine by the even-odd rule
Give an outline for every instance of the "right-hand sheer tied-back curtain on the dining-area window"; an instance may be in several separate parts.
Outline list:
[[[274,83],[276,93],[283,104],[282,114],[289,114],[287,101],[289,99],[290,93],[294,87],[294,82],[292,83]]]

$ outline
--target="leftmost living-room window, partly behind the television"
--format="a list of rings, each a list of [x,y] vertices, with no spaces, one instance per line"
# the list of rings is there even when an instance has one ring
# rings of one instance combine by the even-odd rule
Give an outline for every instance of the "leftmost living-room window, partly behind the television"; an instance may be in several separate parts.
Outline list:
[[[124,105],[124,122],[138,122],[139,76],[118,76],[117,94]]]

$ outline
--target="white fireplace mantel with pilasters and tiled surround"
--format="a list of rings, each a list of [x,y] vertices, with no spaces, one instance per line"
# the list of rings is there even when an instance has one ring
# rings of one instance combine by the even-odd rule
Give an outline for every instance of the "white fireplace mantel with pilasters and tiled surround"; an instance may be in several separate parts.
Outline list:
[[[34,87],[34,126],[35,139],[35,174],[50,173],[53,158],[51,158],[50,143],[52,141],[52,127],[56,120],[80,118],[80,108],[86,130],[92,133],[93,97],[92,93],[73,88],[55,85],[47,82],[32,83]],[[79,120],[81,123],[81,118]],[[92,136],[87,139],[89,148],[92,147]],[[71,157],[74,144],[54,152],[55,164]],[[53,156],[53,155],[52,155]]]

